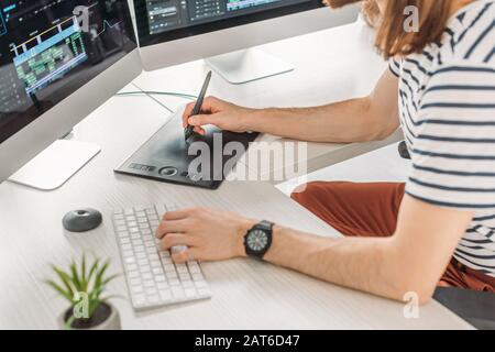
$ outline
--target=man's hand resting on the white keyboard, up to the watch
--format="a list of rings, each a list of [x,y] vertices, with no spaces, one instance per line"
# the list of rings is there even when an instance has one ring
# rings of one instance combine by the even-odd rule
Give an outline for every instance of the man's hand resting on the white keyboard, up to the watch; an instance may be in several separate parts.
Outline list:
[[[164,250],[176,245],[188,248],[172,253],[176,263],[220,261],[245,256],[244,235],[255,223],[228,211],[190,208],[166,212],[156,229],[156,237]]]

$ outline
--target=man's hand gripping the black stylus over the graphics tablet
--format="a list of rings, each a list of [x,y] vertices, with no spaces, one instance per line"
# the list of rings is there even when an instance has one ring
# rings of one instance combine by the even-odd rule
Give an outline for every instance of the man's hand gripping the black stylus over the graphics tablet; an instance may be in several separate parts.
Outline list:
[[[235,106],[215,97],[207,97],[202,101],[201,113],[191,117],[195,102],[188,103],[183,116],[183,125],[195,127],[195,132],[205,134],[206,124],[213,124],[219,129],[232,132],[246,132],[248,119],[255,110]]]

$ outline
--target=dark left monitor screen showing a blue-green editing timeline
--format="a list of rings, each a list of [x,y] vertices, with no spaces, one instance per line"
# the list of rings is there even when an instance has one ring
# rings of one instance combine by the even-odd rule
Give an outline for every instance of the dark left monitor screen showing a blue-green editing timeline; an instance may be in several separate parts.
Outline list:
[[[135,47],[127,0],[0,0],[0,143]]]

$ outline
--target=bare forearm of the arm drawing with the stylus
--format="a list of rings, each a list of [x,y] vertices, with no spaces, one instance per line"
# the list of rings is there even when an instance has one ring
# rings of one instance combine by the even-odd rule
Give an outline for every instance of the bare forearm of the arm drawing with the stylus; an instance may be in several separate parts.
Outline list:
[[[384,138],[384,129],[359,98],[315,108],[263,109],[250,116],[248,129],[312,142],[365,142]]]

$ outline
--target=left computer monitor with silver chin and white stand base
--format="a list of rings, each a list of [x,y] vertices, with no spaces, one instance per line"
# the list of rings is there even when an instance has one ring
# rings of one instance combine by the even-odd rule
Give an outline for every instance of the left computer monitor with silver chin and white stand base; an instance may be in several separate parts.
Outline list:
[[[127,0],[0,0],[0,182],[141,72]],[[57,160],[40,156],[47,148],[13,180],[38,178],[48,189],[43,166],[61,177],[65,165],[78,169],[78,157],[98,152],[80,143],[73,154],[68,143],[55,150],[66,164],[45,165]]]

